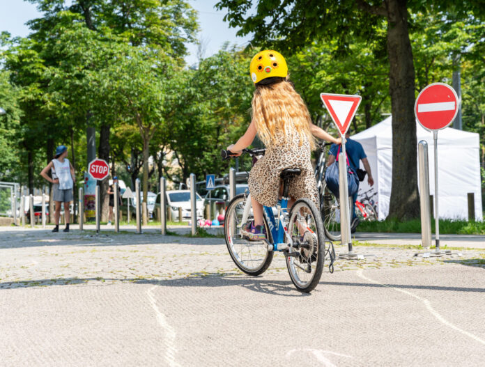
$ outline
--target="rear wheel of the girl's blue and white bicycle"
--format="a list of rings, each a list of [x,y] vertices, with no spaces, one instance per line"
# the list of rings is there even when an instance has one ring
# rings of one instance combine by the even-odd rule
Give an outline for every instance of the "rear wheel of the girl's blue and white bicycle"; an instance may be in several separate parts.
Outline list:
[[[320,281],[325,257],[325,233],[320,212],[307,198],[291,208],[288,234],[293,244],[286,256],[291,281],[301,292],[311,292]]]

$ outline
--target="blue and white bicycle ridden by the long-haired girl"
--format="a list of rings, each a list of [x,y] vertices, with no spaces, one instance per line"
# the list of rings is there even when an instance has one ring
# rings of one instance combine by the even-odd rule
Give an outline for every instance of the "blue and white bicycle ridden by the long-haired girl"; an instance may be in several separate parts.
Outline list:
[[[244,149],[242,153],[258,157],[264,155],[265,149]],[[222,159],[229,159],[233,153],[222,150],[221,155]],[[252,276],[263,274],[268,270],[275,252],[279,251],[285,256],[286,267],[295,287],[301,292],[311,292],[320,281],[327,253],[330,253],[330,271],[333,272],[334,251],[332,249],[332,252],[325,253],[323,223],[320,212],[311,200],[298,199],[288,212],[288,187],[300,173],[300,169],[282,171],[283,196],[276,207],[277,218],[272,208],[263,207],[263,224],[267,233],[264,241],[249,241],[240,233],[242,224],[253,217],[251,194],[247,192],[235,196],[227,205],[224,237],[231,258],[242,272]]]

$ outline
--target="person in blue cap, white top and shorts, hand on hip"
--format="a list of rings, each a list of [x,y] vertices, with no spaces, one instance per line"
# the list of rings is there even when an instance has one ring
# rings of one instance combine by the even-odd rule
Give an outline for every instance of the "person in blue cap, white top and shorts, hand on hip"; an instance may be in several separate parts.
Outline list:
[[[56,211],[54,212],[56,227],[52,232],[59,232],[59,217],[61,217],[62,203],[64,203],[64,212],[66,213],[66,228],[64,228],[64,232],[69,232],[69,204],[74,199],[72,187],[74,187],[75,172],[69,159],[66,158],[67,156],[68,147],[58,146],[54,159],[40,172],[43,178],[54,184],[52,186],[52,200],[56,205]],[[51,170],[52,178],[47,174],[49,169]]]

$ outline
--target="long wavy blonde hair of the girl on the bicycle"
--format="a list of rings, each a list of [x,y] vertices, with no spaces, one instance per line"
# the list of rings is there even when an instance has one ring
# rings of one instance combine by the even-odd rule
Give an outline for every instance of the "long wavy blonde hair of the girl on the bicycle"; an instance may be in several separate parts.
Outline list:
[[[316,141],[310,132],[311,118],[307,105],[288,79],[273,84],[256,84],[252,99],[252,118],[256,132],[265,146],[276,141],[277,132],[284,134],[286,143],[298,134],[300,146],[308,139],[311,150]]]

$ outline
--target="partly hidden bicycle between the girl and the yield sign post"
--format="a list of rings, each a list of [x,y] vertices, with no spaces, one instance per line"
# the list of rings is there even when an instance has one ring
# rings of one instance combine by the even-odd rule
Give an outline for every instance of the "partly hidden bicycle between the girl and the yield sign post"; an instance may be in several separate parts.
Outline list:
[[[325,235],[330,241],[339,241],[341,239],[341,233],[340,224],[337,222],[337,213],[340,210],[340,201],[327,188],[327,182],[325,182],[328,156],[326,147],[331,145],[332,143],[323,143],[320,146],[320,155],[318,155],[315,166],[315,178],[316,188],[320,196],[320,212]]]

